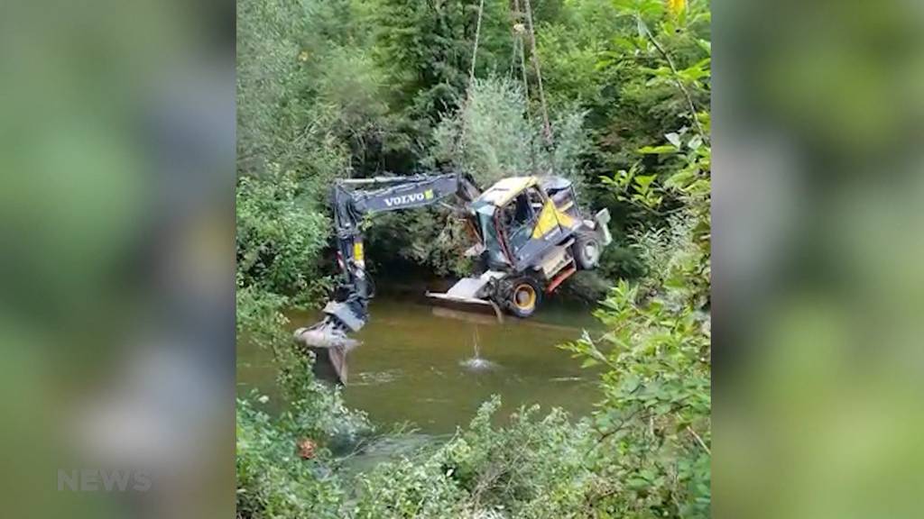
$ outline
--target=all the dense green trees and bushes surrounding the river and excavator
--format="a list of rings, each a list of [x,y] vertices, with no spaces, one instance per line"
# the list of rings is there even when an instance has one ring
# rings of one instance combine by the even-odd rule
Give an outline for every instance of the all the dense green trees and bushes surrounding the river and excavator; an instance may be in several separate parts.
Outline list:
[[[709,4],[533,0],[551,145],[506,0],[484,2],[469,85],[478,6],[238,2],[237,325],[274,352],[288,401],[278,417],[238,401],[241,517],[709,513]],[[492,428],[492,401],[451,441],[346,477],[336,453],[374,441],[371,424],[311,380],[280,309],[330,286],[332,179],[446,165],[484,183],[551,169],[614,214],[616,243],[581,280],[607,332],[563,345],[604,366],[601,403]],[[388,215],[372,259],[461,272],[460,235],[439,212]]]

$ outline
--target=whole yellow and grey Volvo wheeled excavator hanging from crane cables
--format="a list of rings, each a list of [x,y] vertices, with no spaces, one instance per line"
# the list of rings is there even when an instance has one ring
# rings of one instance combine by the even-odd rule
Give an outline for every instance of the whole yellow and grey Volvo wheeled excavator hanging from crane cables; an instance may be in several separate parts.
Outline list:
[[[336,258],[341,275],[323,319],[295,338],[315,354],[319,377],[346,383],[350,338],[370,318],[374,284],[366,270],[362,223],[372,214],[439,204],[465,221],[472,241],[465,252],[472,275],[444,294],[444,302],[491,308],[529,318],[543,295],[577,270],[597,266],[611,241],[605,209],[586,218],[574,187],[560,176],[514,176],[481,191],[461,173],[338,180],[332,190]]]

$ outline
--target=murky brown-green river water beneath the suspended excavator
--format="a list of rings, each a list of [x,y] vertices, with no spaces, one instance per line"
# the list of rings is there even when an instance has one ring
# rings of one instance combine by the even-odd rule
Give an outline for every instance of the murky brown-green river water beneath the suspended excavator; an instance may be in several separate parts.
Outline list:
[[[435,310],[419,297],[377,296],[371,320],[349,356],[346,404],[365,411],[377,425],[409,422],[425,434],[452,433],[478,406],[500,394],[499,418],[522,404],[573,416],[590,413],[600,400],[597,373],[556,344],[599,330],[590,308],[549,302],[533,318],[505,318]],[[292,330],[309,326],[318,312],[287,314]],[[476,352],[477,346],[477,352]],[[272,354],[237,344],[237,391],[256,387],[278,409]]]

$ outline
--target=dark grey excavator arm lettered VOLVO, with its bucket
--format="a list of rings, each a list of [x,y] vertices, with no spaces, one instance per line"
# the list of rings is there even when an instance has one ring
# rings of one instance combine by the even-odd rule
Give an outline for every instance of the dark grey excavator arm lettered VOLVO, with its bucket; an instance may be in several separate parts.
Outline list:
[[[363,219],[379,212],[435,204],[464,211],[465,204],[479,195],[480,189],[463,174],[357,178],[334,184],[331,200],[340,279],[334,296],[323,308],[324,318],[295,334],[299,342],[315,352],[316,370],[322,376],[346,381],[346,354],[359,344],[349,334],[358,332],[369,320],[369,301],[375,289],[366,272]]]

